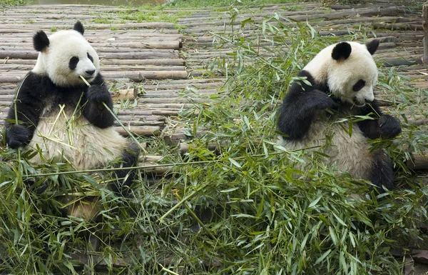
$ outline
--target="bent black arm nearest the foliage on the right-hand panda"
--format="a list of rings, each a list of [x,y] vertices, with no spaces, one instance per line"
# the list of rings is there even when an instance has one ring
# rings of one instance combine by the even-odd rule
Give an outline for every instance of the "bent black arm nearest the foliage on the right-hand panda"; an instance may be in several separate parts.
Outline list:
[[[299,76],[306,76],[312,86],[298,80],[285,95],[277,121],[278,130],[285,134],[285,139],[302,139],[316,111],[335,104],[324,91],[316,89],[315,81],[307,71],[301,71]]]

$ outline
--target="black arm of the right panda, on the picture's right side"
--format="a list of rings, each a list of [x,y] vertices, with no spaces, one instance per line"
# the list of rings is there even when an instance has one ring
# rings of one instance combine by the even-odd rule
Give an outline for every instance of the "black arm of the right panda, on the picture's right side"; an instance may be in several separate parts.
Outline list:
[[[401,125],[393,116],[383,114],[376,100],[361,109],[361,116],[372,116],[374,119],[358,121],[362,133],[369,139],[392,139],[401,133]]]

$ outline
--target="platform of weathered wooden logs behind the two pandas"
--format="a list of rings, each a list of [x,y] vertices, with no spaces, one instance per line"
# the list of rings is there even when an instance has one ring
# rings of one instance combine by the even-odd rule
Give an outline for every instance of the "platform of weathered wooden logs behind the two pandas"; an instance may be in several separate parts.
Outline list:
[[[412,3],[418,1],[422,7],[424,1]],[[224,36],[239,30],[243,36],[255,37],[250,27],[241,27],[243,20],[251,17],[261,22],[264,16],[276,12],[287,19],[284,23],[290,26],[309,21],[322,36],[362,35],[367,31],[365,35],[369,39],[381,39],[375,60],[399,70],[415,88],[414,99],[419,106],[404,110],[405,122],[427,131],[424,106],[427,104],[428,67],[422,64],[422,8],[409,10],[404,2],[395,0],[374,2],[331,5],[330,9],[311,2],[265,5],[263,9],[243,9],[233,24],[230,24],[228,8],[188,10],[187,16],[178,19],[183,27],[180,30],[171,23],[136,23],[121,16],[127,9],[113,6],[30,5],[1,9],[0,124],[4,124],[16,86],[36,63],[37,53],[32,49],[34,33],[44,30],[49,35],[51,31],[71,29],[74,22],[80,20],[86,27],[86,39],[101,58],[101,72],[114,87],[112,94],[118,118],[133,134],[164,139],[183,153],[188,149],[187,136],[183,134],[185,122],[177,119],[178,114],[189,106],[208,102],[210,95],[219,91],[225,76],[213,70],[211,64],[215,59],[232,58],[232,49],[218,49],[215,34]],[[175,14],[177,11],[163,12]],[[100,19],[108,19],[108,22],[99,23]],[[378,97],[385,102],[402,100],[383,92]],[[384,108],[389,108],[388,105]],[[126,134],[118,124],[116,126]],[[203,133],[203,129],[200,130]],[[146,156],[145,159],[156,163],[160,158]],[[411,166],[413,169],[428,169],[427,158],[417,156],[415,159],[417,163]],[[160,167],[154,172],[163,174],[166,170]],[[85,259],[83,257],[81,262]]]

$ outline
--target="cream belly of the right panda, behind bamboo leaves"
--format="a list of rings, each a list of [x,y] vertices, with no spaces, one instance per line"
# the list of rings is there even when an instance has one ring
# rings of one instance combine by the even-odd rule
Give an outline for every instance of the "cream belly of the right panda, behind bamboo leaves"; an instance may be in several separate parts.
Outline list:
[[[370,180],[373,162],[370,144],[357,124],[352,125],[351,136],[348,126],[347,122],[314,119],[303,139],[284,140],[283,145],[290,151],[316,146],[315,149],[307,149],[306,154],[308,151],[321,151],[330,156],[328,164],[334,165],[338,170],[347,171],[355,179]]]

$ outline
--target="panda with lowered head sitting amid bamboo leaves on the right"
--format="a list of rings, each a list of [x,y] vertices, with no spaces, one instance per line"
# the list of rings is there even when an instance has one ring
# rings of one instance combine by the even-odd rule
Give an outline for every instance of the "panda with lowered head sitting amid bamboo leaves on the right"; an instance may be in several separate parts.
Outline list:
[[[320,146],[330,156],[328,164],[355,179],[371,181],[383,193],[384,187],[394,187],[392,160],[382,149],[373,150],[369,140],[392,139],[401,126],[394,117],[382,114],[374,99],[377,66],[372,54],[378,46],[379,40],[374,39],[367,44],[340,42],[322,49],[290,86],[277,129],[286,149]],[[357,121],[348,131],[347,118],[355,116],[372,119]]]

